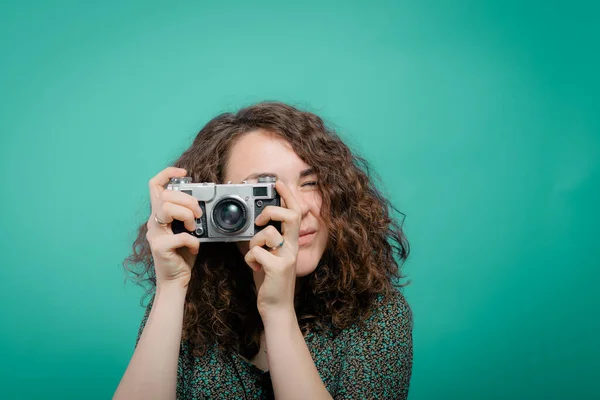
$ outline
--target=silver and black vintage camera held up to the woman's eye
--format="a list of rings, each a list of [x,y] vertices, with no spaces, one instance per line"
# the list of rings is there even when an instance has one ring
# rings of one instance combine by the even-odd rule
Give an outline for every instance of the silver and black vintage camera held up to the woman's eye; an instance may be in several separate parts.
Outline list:
[[[196,230],[188,231],[182,221],[171,224],[173,233],[188,232],[200,242],[239,242],[252,239],[259,231],[274,225],[281,232],[281,222],[269,221],[257,226],[256,217],[267,206],[280,206],[275,178],[260,177],[258,183],[215,184],[192,183],[192,178],[172,178],[167,190],[178,190],[198,200],[202,217],[196,219]]]

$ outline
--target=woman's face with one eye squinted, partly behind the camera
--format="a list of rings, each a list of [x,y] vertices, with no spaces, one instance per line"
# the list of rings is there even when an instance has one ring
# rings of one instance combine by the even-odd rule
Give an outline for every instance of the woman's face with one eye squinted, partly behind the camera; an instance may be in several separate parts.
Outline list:
[[[329,238],[320,214],[321,194],[316,186],[317,176],[287,141],[267,131],[257,130],[243,135],[233,145],[225,182],[256,183],[260,176],[275,176],[283,181],[302,207],[296,275],[306,276],[317,267]],[[285,207],[285,202],[282,203]],[[237,242],[242,255],[248,251],[248,244]]]

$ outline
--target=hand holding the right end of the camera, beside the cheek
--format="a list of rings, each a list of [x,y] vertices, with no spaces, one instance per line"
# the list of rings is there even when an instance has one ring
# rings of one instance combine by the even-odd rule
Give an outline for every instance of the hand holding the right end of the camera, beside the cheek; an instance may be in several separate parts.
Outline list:
[[[257,290],[257,306],[262,318],[274,313],[294,312],[296,285],[296,260],[302,208],[290,190],[281,181],[275,182],[282,206],[267,206],[256,217],[256,225],[266,225],[269,220],[281,221],[281,233],[272,225],[250,240],[244,259],[252,268]],[[283,245],[278,247],[281,243]],[[263,246],[270,250],[266,250]]]

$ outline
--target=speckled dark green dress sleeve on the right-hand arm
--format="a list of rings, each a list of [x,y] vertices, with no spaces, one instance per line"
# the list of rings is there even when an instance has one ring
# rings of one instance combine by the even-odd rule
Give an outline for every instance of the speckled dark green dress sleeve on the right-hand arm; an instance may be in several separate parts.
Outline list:
[[[400,292],[378,299],[347,342],[335,399],[406,399],[412,373],[412,311]]]

